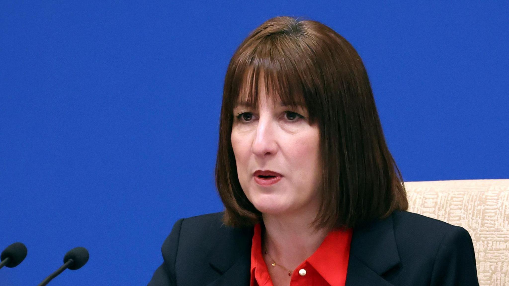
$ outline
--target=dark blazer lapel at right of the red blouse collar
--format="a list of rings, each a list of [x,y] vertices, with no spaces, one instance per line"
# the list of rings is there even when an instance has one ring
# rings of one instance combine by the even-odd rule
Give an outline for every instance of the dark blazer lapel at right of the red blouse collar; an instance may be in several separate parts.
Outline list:
[[[346,286],[386,285],[382,275],[400,263],[392,216],[354,228]]]

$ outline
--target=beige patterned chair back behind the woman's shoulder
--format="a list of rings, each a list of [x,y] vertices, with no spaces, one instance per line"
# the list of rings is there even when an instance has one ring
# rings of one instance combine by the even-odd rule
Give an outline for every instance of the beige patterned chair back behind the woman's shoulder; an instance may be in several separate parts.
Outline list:
[[[479,285],[509,286],[509,179],[405,182],[408,211],[462,226]]]

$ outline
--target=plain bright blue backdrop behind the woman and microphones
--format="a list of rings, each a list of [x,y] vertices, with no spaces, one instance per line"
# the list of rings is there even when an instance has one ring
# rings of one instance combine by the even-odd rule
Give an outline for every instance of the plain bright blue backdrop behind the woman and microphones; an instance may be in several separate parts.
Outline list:
[[[1,1],[0,249],[35,285],[145,285],[174,222],[222,210],[222,84],[234,50],[278,16],[321,21],[370,75],[405,181],[509,178],[509,2]]]

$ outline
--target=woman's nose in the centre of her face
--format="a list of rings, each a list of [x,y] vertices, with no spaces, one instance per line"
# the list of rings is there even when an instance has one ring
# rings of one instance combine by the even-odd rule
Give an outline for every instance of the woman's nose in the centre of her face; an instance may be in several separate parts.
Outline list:
[[[276,128],[277,127],[274,126],[274,122],[272,122],[272,120],[268,117],[260,117],[251,146],[253,154],[260,157],[276,154]]]

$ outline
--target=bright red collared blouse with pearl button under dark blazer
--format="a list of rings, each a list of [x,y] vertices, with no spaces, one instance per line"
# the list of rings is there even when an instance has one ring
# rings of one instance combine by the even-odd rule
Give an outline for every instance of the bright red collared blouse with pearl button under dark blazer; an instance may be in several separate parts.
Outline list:
[[[330,232],[315,253],[293,271],[290,286],[345,286],[351,241],[352,228]],[[260,223],[254,226],[250,285],[273,286],[262,256]]]

